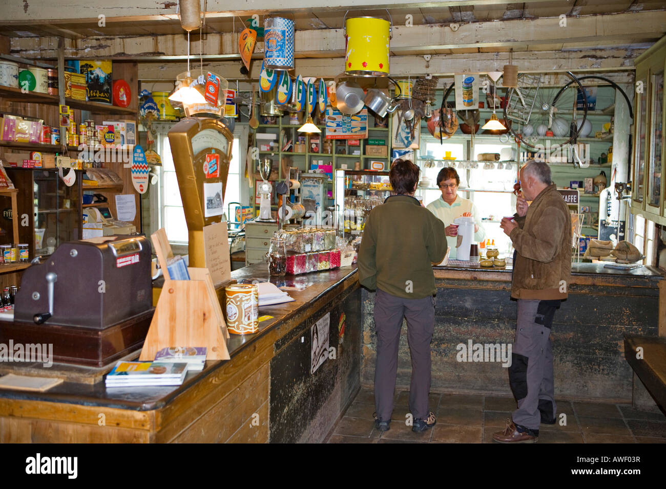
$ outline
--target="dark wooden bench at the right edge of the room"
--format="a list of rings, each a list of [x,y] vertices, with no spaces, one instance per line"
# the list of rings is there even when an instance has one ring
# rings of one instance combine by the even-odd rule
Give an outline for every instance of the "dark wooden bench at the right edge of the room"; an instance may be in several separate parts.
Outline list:
[[[639,348],[642,359],[637,358]],[[625,358],[657,405],[666,410],[666,338],[625,335]]]

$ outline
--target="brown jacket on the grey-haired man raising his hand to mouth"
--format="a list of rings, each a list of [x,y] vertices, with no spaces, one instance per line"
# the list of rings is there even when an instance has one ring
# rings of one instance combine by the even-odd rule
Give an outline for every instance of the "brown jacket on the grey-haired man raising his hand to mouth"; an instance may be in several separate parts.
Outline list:
[[[555,184],[541,191],[511,231],[516,250],[511,297],[566,299],[571,279],[571,213]]]

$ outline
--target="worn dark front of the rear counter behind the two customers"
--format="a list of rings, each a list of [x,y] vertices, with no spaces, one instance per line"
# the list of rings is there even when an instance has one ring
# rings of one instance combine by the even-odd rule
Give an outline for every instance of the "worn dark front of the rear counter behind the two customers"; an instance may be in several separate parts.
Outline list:
[[[620,271],[575,263],[571,272],[569,298],[555,313],[551,329],[555,393],[568,399],[631,402],[633,375],[624,358],[623,333],[666,336],[666,282],[653,267]],[[434,273],[432,389],[510,395],[507,360],[517,313],[517,303],[510,298],[511,268],[446,266],[435,267]],[[374,293],[363,289],[362,297],[361,381],[372,385]],[[398,386],[408,389],[410,375],[403,329]]]

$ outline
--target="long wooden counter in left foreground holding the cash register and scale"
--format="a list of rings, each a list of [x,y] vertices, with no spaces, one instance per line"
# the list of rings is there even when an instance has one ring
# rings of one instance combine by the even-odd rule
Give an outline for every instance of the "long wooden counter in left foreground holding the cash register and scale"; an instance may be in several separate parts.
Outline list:
[[[318,442],[360,385],[356,267],[308,274],[294,302],[254,335],[231,335],[229,361],[208,361],[179,387],[105,389],[63,383],[45,393],[0,390],[0,442]],[[266,265],[232,272],[268,277]],[[310,374],[310,327],[330,314],[329,358]]]

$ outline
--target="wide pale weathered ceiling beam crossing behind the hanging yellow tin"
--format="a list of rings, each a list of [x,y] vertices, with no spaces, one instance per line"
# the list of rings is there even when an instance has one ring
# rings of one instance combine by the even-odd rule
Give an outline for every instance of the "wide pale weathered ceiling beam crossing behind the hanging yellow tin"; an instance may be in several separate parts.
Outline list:
[[[567,21],[559,27],[559,19],[515,19],[477,22],[460,25],[453,31],[444,25],[415,27],[394,26],[391,52],[435,53],[442,49],[486,49],[504,51],[528,49],[537,45],[571,45],[598,43],[606,47],[654,42],[666,30],[666,11],[587,15]],[[182,59],[187,52],[186,35],[89,37],[66,39],[65,57]],[[195,38],[196,39],[196,38]],[[198,55],[198,42],[192,41],[190,52]],[[57,53],[49,38],[22,37],[12,39],[12,53],[22,57],[54,58]],[[296,32],[295,51],[300,57],[342,57],[345,39],[343,29],[310,29]],[[238,33],[204,36],[204,54],[219,59],[238,59]],[[257,43],[255,54],[263,52]]]

